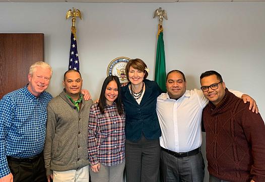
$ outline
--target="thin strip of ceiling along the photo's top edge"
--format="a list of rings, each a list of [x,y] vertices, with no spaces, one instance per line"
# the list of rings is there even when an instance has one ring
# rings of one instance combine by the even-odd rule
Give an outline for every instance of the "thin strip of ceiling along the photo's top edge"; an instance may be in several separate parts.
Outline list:
[[[26,3],[181,3],[181,2],[265,2],[265,0],[0,0]]]

